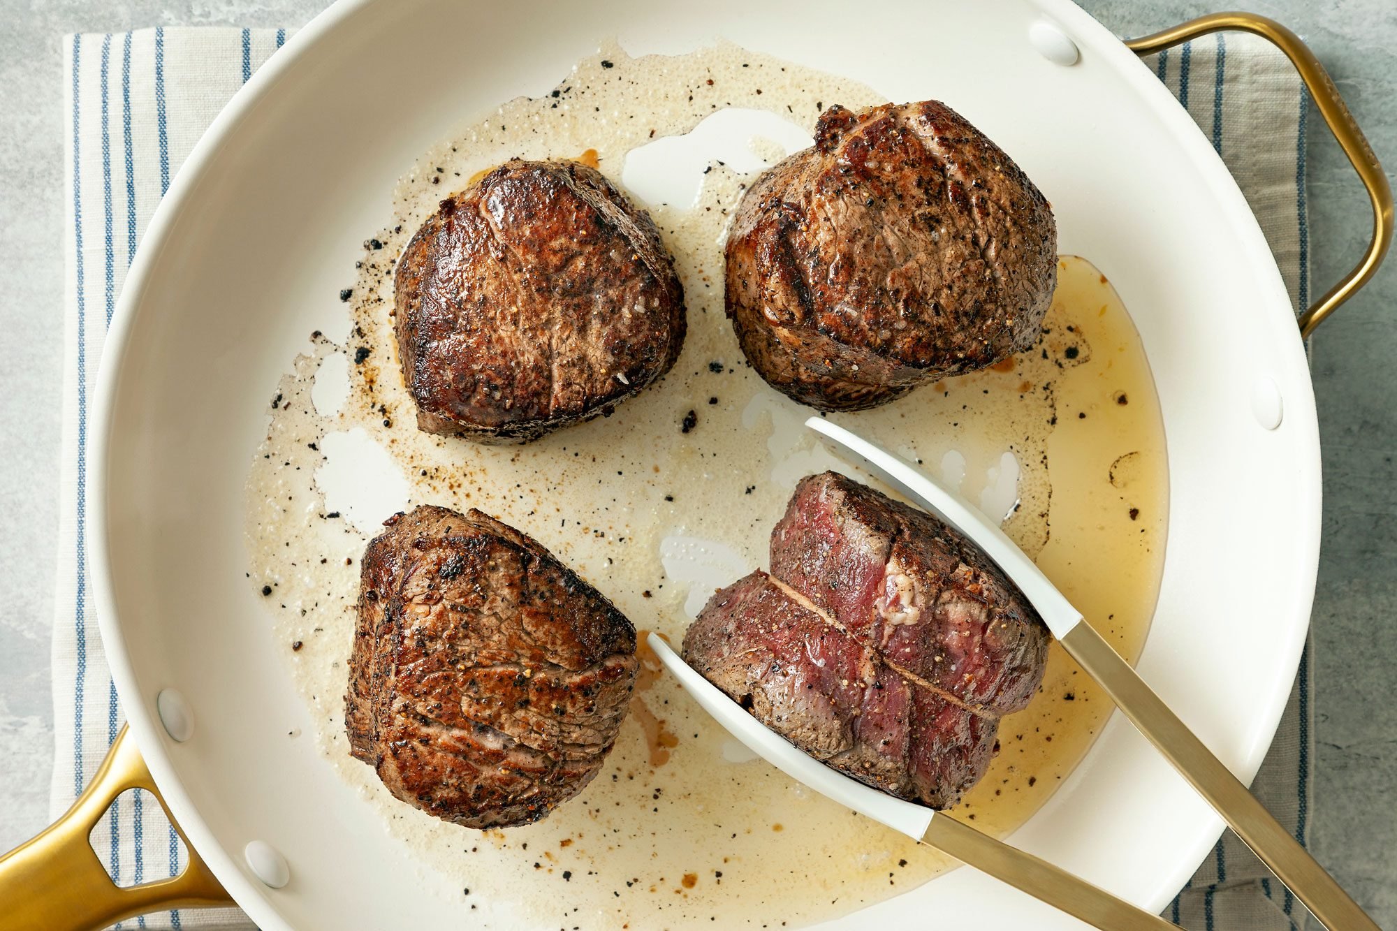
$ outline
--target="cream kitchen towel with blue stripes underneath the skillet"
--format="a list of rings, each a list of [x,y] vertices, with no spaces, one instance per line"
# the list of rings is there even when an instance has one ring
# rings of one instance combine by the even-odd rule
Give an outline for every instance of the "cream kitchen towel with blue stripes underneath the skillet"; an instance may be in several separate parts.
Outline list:
[[[122,724],[88,590],[88,414],[102,340],[127,266],[170,176],[233,92],[286,39],[285,29],[144,29],[64,41],[64,421],[53,700],[52,812],[60,815]],[[1285,59],[1228,35],[1150,60],[1222,154],[1266,231],[1296,306],[1309,301],[1305,120],[1309,102]],[[1306,839],[1313,710],[1309,656],[1255,788]],[[186,857],[158,804],[122,797],[92,835],[123,885],[168,876]],[[1165,916],[1189,928],[1305,928],[1303,909],[1231,835]],[[233,910],[166,911],[127,927],[251,927]]]

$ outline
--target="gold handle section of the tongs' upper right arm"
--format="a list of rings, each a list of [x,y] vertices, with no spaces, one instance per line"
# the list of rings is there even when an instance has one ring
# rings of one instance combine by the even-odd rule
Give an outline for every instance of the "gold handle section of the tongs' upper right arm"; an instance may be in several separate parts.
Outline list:
[[[1106,695],[1130,723],[1326,928],[1380,931],[1090,623],[1077,623],[1060,643],[1087,675],[1106,689]]]

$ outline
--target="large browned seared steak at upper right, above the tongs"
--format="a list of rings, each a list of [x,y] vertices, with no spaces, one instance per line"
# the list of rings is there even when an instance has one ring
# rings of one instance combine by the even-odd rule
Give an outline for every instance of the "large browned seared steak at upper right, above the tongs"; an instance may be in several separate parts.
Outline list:
[[[1032,347],[1058,282],[1048,201],[944,103],[831,106],[743,196],[726,308],[753,368],[823,411]]]

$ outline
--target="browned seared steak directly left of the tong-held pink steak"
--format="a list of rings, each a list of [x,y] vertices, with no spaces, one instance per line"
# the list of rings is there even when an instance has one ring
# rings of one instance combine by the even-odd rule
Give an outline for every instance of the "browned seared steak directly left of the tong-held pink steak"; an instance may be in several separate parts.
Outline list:
[[[468,828],[545,818],[601,769],[636,630],[542,545],[478,510],[387,521],[360,569],[345,727],[397,798]]]

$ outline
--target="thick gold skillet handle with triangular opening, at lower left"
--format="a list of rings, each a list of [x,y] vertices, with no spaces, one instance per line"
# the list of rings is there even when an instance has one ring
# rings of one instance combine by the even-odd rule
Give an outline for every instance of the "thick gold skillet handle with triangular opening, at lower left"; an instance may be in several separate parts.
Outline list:
[[[184,872],[126,889],[112,882],[88,835],[129,788],[144,788],[165,807],[136,741],[122,727],[73,808],[38,837],[0,857],[0,931],[89,931],[162,909],[233,904],[182,830],[189,850]]]

